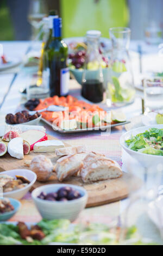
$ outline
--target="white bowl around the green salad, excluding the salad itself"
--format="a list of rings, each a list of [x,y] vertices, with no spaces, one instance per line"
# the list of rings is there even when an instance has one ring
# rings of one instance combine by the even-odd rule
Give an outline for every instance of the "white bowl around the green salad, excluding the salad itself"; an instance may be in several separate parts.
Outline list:
[[[120,138],[120,143],[122,148],[132,157],[134,157],[134,159],[136,159],[137,161],[139,161],[143,167],[151,167],[151,166],[155,166],[156,164],[163,164],[163,156],[155,156],[155,155],[148,155],[148,154],[143,154],[143,153],[139,153],[136,152],[134,150],[131,150],[128,148],[127,144],[126,144],[126,140],[130,139],[131,135],[135,136],[139,133],[143,133],[146,130],[149,130],[151,128],[158,128],[158,129],[163,129],[163,125],[149,125],[149,126],[142,126],[133,130],[130,130],[126,133],[124,133],[121,138]]]

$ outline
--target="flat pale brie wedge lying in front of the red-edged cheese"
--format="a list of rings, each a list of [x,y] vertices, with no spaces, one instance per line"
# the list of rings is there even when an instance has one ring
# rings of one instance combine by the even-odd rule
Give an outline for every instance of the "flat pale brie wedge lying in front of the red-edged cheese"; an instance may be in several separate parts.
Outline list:
[[[34,144],[34,152],[55,152],[55,149],[64,148],[65,145],[58,139],[49,139],[49,141],[37,142]]]

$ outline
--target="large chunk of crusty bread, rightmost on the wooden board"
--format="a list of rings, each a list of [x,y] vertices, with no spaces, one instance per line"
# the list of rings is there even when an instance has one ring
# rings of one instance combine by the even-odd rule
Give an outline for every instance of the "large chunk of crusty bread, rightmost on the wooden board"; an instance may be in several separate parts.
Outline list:
[[[90,153],[83,160],[84,166],[80,175],[84,182],[114,179],[122,176],[117,162],[101,154]]]

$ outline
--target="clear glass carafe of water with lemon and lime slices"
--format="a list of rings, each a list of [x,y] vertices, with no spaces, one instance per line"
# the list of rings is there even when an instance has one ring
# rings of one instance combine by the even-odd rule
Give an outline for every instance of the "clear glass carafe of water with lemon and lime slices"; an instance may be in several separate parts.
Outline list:
[[[129,58],[129,28],[110,28],[112,44],[111,68],[106,89],[108,106],[123,106],[134,101],[135,89],[131,61]]]

